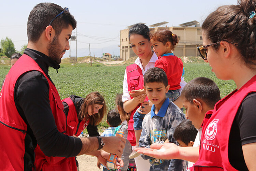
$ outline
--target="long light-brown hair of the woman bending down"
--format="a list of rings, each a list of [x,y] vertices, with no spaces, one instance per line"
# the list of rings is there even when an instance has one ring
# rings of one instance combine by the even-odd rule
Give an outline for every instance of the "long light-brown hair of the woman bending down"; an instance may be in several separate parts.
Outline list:
[[[98,114],[93,114],[92,116],[89,116],[87,112],[88,106],[89,105],[92,106],[91,110],[93,113],[94,104],[101,104],[103,106],[99,110]],[[103,97],[100,95],[100,93],[98,91],[91,92],[83,100],[83,104],[81,105],[81,111],[79,113],[79,118],[82,120],[90,119],[89,123],[91,125],[98,125],[101,122],[103,116],[106,114],[106,111],[107,111],[106,103]]]

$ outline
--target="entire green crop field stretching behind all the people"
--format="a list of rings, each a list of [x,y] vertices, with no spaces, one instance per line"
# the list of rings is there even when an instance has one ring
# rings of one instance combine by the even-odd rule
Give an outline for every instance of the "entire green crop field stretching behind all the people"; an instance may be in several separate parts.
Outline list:
[[[115,96],[123,92],[123,77],[126,66],[104,66],[94,63],[93,66],[82,63],[71,66],[64,63],[56,73],[53,68],[49,69],[49,75],[55,83],[60,98],[70,95],[85,97],[92,91],[99,91],[108,105],[108,109],[115,108]],[[8,73],[10,66],[0,65],[0,84]],[[223,81],[216,78],[208,63],[184,63],[185,81],[188,82],[196,77],[204,76],[215,81],[221,90],[221,97],[225,97],[236,88],[233,81]],[[105,119],[102,123],[107,126]]]

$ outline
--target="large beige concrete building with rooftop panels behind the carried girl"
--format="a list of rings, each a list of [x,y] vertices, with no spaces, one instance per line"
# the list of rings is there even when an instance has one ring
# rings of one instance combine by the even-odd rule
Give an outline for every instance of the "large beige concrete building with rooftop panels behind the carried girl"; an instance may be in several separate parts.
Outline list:
[[[142,23],[145,24],[145,23]],[[199,56],[197,47],[202,45],[202,29],[200,23],[196,20],[180,24],[175,27],[167,27],[168,22],[161,22],[150,25],[150,31],[153,34],[157,30],[169,29],[178,36],[179,43],[175,46],[174,54],[178,57],[182,56]],[[136,56],[129,44],[129,29],[120,30],[120,58],[127,60]]]

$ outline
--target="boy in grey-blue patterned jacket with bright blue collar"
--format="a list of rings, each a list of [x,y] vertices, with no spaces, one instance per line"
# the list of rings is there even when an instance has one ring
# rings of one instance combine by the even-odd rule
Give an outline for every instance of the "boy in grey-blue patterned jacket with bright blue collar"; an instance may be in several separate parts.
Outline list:
[[[174,130],[185,115],[168,98],[170,85],[166,73],[160,68],[151,68],[144,74],[144,86],[148,99],[153,103],[151,112],[148,113],[142,123],[142,132],[139,140],[140,147],[150,147],[154,143],[169,142],[176,143],[173,137]],[[143,159],[150,159],[150,171],[168,170],[183,171],[186,170],[184,160],[160,160],[149,156],[141,155]]]

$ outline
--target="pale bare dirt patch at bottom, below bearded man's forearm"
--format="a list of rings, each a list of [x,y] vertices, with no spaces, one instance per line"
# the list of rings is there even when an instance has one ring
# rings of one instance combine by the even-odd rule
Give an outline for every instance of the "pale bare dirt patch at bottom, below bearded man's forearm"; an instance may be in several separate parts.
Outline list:
[[[79,163],[79,170],[80,171],[98,171],[99,168],[97,167],[97,158],[94,156],[89,155],[81,155],[76,157]],[[102,166],[100,167],[102,170]]]

